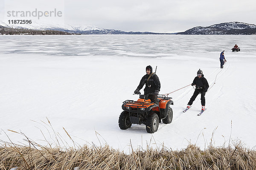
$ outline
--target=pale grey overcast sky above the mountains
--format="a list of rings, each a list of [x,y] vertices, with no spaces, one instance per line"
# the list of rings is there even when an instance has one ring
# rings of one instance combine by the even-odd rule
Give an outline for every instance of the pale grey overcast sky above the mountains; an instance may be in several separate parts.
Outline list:
[[[210,26],[231,21],[256,24],[256,0],[0,0],[0,2],[2,16],[11,9],[56,8],[63,13],[63,17],[58,20],[64,20],[66,24],[95,25],[122,31],[178,32],[195,26]]]

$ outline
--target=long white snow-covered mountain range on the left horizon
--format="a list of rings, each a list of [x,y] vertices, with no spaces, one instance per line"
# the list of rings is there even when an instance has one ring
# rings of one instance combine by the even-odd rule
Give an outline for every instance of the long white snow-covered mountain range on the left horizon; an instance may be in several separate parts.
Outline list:
[[[98,26],[91,25],[79,25],[72,26],[69,24],[61,25],[56,23],[45,24],[45,23],[36,23],[32,24],[6,24],[0,21],[0,26],[4,26],[7,28],[15,28],[15,29],[32,29],[32,30],[55,30],[55,31],[65,31],[68,33],[75,34],[160,34],[153,32],[125,32],[121,30],[113,30],[113,29],[105,29],[99,28]]]

